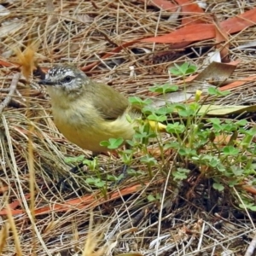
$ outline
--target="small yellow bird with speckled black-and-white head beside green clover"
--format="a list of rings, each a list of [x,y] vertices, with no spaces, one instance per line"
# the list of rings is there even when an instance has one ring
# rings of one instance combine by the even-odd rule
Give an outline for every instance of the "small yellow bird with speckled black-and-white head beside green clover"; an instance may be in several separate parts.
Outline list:
[[[55,125],[80,148],[98,154],[108,151],[100,145],[102,141],[134,136],[140,113],[117,90],[89,79],[78,68],[52,67],[39,84],[48,85]]]

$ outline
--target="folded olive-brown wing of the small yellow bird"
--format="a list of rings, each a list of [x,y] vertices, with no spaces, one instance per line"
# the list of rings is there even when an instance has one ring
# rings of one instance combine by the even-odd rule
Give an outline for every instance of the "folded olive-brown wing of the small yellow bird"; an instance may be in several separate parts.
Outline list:
[[[125,96],[107,84],[93,83],[93,91],[97,96],[93,104],[103,119],[117,119],[125,113],[129,102]]]

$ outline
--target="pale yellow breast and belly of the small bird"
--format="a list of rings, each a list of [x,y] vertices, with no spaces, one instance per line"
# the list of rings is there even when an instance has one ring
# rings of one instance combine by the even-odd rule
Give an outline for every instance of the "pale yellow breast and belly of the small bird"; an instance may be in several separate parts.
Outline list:
[[[72,143],[80,148],[93,152],[108,151],[100,146],[102,141],[109,138],[122,137],[124,140],[132,139],[134,124],[126,118],[126,113],[115,120],[102,119],[93,106],[84,108],[58,109],[53,108],[55,125],[61,133]]]

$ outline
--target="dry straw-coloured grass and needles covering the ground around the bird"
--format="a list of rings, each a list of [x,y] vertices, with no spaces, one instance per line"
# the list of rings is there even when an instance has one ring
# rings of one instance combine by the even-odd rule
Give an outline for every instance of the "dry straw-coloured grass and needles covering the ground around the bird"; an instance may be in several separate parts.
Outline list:
[[[219,20],[256,7],[254,1],[206,2],[207,12],[214,12]],[[84,67],[100,61],[100,65],[86,73],[93,79],[109,82],[127,96],[148,96],[149,85],[166,83],[166,70],[173,62],[194,62],[202,70],[203,60],[214,47],[213,40],[195,43],[194,49],[202,46],[203,53],[192,55],[191,52],[170,51],[164,44],[137,43],[102,60],[102,55],[124,42],[175,30],[181,17],[138,1],[7,0],[3,3],[10,15],[0,16],[0,59],[3,55],[15,61],[15,49],[26,49],[27,44],[34,42],[38,45],[36,58],[42,67],[65,62]],[[8,35],[3,34],[3,27]],[[230,36],[230,58],[241,60],[231,79],[255,73],[254,49],[237,48],[255,41],[255,29],[252,26]],[[131,66],[136,76],[130,75]],[[0,68],[1,99],[8,95],[15,73],[19,73],[16,67]],[[252,104],[255,102],[254,87],[255,83],[250,82],[219,102]],[[52,210],[37,215],[35,209],[66,205],[68,199],[82,195],[95,195],[95,201],[98,200],[97,190],[71,174],[70,166],[64,162],[67,156],[89,156],[90,152],[68,143],[57,131],[50,114],[49,97],[44,88],[26,84],[25,79],[20,79],[9,106],[0,113],[0,184],[4,191],[0,205],[4,209],[8,203],[20,201],[15,209],[24,212],[1,216],[2,255],[82,255],[85,241],[92,239],[92,233],[99,237],[95,247],[106,248],[107,255],[125,252],[153,255],[156,251],[157,255],[198,255],[199,251],[219,255],[228,250],[236,255],[244,253],[247,240],[243,238],[250,238],[249,233],[254,228],[247,212],[232,206],[229,194],[225,198],[215,195],[215,203],[221,208],[219,214],[213,215],[212,202],[207,202],[202,194],[207,184],[191,181],[179,184],[181,187],[162,182],[159,185],[163,178],[161,170],[154,170],[151,181],[143,177],[141,183],[147,185],[140,186],[131,177],[119,188],[109,188],[111,194],[136,184],[137,193],[120,194],[119,199],[101,201],[97,207],[95,203],[84,207],[74,205],[69,211]],[[253,125],[253,119],[251,122]],[[101,156],[100,162],[110,171],[121,166],[118,159],[109,160],[107,156]],[[135,169],[144,168],[136,166],[136,161],[134,165]],[[171,168],[172,163],[170,165]],[[73,188],[59,192],[56,183],[61,177],[69,176],[73,176]],[[163,204],[147,201],[147,195],[156,194],[162,196]],[[90,220],[90,210],[94,212],[93,220]],[[220,213],[224,213],[222,217]],[[89,254],[92,253],[83,255]]]

